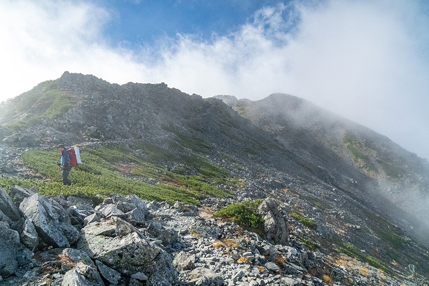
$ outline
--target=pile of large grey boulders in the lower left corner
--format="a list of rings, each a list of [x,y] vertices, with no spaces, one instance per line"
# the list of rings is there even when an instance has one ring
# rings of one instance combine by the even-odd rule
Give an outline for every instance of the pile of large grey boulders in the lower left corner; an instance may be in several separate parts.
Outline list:
[[[43,197],[36,191],[13,186],[12,200],[0,188],[0,280],[12,276],[9,283],[43,285],[40,273],[49,274],[51,285],[64,286],[171,285],[177,280],[172,257],[162,246],[177,233],[161,222],[147,222],[146,203],[137,196],[116,195],[93,208],[89,200]],[[148,227],[139,230],[143,225]],[[57,250],[57,260],[42,263],[48,251],[36,259],[36,249],[49,248]]]

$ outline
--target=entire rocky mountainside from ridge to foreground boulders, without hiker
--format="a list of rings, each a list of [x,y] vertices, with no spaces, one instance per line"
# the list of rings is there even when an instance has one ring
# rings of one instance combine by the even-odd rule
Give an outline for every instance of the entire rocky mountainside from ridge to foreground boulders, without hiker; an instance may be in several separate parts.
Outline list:
[[[0,105],[0,139],[0,285],[429,277],[427,161],[294,96],[66,72]],[[71,187],[59,143],[82,150]]]

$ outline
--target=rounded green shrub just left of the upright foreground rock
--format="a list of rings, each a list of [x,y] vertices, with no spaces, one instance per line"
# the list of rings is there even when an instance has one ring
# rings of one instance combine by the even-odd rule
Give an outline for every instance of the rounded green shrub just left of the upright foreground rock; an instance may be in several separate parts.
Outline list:
[[[264,234],[263,217],[257,213],[262,200],[245,201],[242,203],[234,203],[221,208],[214,216],[222,217],[237,223],[245,230],[254,232],[260,236]]]

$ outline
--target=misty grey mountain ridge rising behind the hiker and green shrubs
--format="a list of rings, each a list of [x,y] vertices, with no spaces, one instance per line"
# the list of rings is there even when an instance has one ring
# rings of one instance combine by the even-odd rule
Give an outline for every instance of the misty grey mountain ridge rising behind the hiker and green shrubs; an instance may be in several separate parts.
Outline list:
[[[198,154],[245,181],[234,188],[235,200],[281,192],[291,210],[315,219],[327,242],[345,240],[389,263],[400,257],[400,267],[420,261],[416,268],[426,271],[419,264],[424,251],[407,252],[418,248],[408,237],[427,245],[424,217],[415,218],[426,213],[427,160],[306,100],[280,93],[258,101],[202,98],[164,83],[120,86],[66,72],[0,111],[2,150],[115,142],[144,157],[143,142],[166,153]],[[158,163],[169,171],[180,166]],[[11,168],[0,163],[2,173]]]

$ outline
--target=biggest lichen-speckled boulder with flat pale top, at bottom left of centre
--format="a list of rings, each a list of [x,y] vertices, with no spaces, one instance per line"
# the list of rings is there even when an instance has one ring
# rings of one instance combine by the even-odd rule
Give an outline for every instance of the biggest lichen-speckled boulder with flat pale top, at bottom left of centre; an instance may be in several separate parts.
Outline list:
[[[177,278],[170,255],[118,217],[82,228],[77,248],[128,277],[141,272],[148,277],[158,273],[170,282]]]

